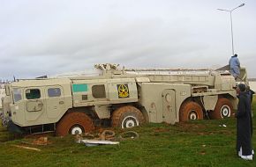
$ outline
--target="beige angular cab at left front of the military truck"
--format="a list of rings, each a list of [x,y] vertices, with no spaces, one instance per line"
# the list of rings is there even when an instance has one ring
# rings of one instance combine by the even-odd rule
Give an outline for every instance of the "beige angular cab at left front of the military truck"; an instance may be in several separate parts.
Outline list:
[[[4,123],[11,131],[55,123],[72,107],[69,79],[20,80],[6,84]],[[47,127],[47,126],[46,126]]]

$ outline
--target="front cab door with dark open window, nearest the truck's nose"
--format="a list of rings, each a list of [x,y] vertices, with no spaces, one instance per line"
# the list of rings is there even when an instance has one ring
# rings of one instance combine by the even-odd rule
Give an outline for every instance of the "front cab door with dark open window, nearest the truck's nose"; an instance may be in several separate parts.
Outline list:
[[[45,94],[42,87],[25,89],[26,120],[37,120],[45,112]]]

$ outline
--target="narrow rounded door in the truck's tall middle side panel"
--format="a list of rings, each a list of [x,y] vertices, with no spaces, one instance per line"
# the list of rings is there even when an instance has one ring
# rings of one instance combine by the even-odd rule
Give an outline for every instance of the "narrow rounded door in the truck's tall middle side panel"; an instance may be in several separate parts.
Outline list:
[[[162,120],[174,124],[177,118],[176,98],[174,90],[162,91]]]

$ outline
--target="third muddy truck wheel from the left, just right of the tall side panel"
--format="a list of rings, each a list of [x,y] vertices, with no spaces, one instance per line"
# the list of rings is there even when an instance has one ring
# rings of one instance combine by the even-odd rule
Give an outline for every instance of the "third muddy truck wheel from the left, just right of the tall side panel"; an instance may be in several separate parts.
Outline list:
[[[188,120],[202,120],[203,111],[202,107],[193,101],[184,102],[179,110],[179,120],[184,122]]]

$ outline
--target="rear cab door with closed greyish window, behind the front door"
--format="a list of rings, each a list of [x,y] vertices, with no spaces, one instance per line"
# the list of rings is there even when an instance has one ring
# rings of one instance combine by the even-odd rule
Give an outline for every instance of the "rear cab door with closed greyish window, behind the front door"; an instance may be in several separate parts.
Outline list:
[[[64,91],[59,85],[46,87],[47,117],[54,119],[64,110]]]

